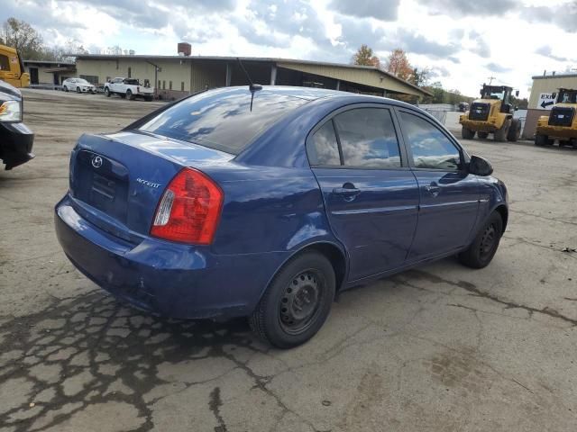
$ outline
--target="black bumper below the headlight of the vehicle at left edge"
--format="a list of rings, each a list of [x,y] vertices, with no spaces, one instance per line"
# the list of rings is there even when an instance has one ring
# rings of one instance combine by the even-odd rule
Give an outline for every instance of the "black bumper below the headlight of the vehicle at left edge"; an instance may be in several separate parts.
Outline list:
[[[6,169],[22,165],[34,157],[34,133],[23,123],[0,123],[0,159]]]

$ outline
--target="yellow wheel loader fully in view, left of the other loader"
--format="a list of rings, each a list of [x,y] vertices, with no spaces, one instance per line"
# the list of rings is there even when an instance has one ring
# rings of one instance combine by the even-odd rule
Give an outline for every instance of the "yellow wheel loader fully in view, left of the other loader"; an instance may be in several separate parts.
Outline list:
[[[512,92],[513,89],[507,85],[483,84],[481,99],[473,101],[469,111],[459,118],[463,139],[473,139],[475,133],[484,139],[492,133],[496,141],[517,141],[521,122],[513,118],[516,108],[510,103]]]

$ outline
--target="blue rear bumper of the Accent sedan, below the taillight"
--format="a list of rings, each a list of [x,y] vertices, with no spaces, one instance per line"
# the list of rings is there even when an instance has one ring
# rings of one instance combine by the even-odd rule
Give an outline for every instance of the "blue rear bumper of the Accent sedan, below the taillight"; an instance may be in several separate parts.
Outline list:
[[[98,229],[65,197],[55,209],[64,253],[95,284],[139,309],[173,318],[250,314],[285,253],[214,255],[156,238],[134,245]]]

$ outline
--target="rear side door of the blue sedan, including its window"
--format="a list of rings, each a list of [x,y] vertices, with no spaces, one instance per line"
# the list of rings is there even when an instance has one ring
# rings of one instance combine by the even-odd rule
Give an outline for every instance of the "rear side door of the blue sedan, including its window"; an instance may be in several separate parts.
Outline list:
[[[312,170],[349,281],[402,266],[417,228],[418,187],[387,105],[355,105],[321,122],[307,139]]]

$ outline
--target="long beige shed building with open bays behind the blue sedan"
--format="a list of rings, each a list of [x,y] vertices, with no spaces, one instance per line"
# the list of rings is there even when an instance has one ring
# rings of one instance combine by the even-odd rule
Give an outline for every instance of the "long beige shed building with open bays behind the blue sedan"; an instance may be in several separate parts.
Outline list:
[[[431,95],[377,67],[286,58],[240,59],[252,81],[261,85],[314,86],[380,96]],[[76,68],[79,77],[95,85],[104,85],[115,76],[147,81],[163,99],[178,99],[206,88],[247,84],[234,57],[79,55]]]

